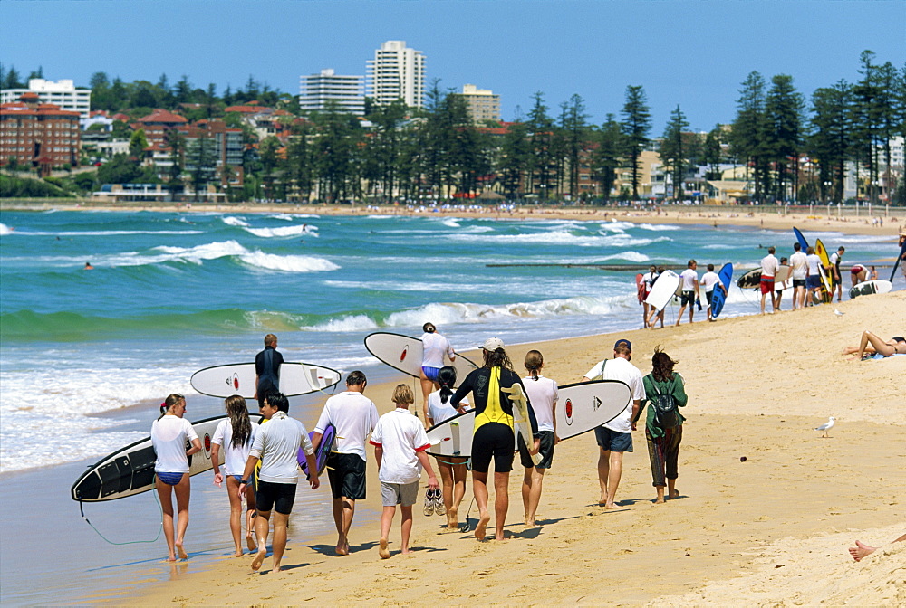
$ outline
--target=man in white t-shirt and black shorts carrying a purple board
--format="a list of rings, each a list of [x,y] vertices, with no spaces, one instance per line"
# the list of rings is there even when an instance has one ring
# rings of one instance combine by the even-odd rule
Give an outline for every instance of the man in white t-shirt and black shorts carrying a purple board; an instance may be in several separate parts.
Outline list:
[[[365,499],[365,441],[378,423],[378,408],[362,394],[368,380],[360,371],[346,376],[346,390],[324,404],[314,426],[312,443],[318,449],[328,424],[336,429],[336,447],[327,457],[327,478],[333,495],[333,523],[337,528],[336,554],[349,555],[349,530],[355,501]]]

